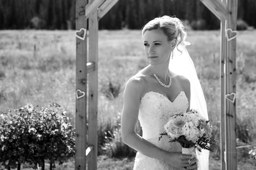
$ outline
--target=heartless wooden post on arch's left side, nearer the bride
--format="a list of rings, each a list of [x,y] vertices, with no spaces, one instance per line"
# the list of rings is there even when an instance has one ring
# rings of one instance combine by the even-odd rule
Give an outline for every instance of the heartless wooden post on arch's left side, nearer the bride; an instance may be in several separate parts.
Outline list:
[[[92,0],[90,0],[92,1]],[[98,11],[89,16],[89,62],[94,63],[94,71],[88,74],[88,145],[93,145],[91,159],[88,160],[88,169],[97,169],[97,104],[98,104]]]

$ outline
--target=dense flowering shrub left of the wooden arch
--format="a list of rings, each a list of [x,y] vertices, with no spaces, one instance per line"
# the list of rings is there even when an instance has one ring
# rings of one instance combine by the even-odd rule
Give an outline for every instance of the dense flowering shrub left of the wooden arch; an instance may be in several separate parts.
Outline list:
[[[75,129],[56,103],[40,111],[31,104],[0,115],[0,163],[16,168],[18,163],[39,164],[44,160],[63,163],[75,154]],[[43,168],[42,168],[43,169]]]

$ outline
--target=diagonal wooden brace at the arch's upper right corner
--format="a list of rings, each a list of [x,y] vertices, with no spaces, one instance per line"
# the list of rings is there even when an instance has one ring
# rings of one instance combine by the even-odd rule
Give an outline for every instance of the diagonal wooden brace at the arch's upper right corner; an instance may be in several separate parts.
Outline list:
[[[200,0],[219,20],[226,19],[226,5],[220,0]]]

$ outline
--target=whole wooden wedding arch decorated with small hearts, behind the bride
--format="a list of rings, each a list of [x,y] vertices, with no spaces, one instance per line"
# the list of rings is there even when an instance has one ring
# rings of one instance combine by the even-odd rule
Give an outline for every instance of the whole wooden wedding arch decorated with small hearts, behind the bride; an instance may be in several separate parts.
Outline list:
[[[117,1],[76,0],[76,170],[97,169],[98,20]],[[200,1],[221,21],[221,169],[235,170],[237,0]]]

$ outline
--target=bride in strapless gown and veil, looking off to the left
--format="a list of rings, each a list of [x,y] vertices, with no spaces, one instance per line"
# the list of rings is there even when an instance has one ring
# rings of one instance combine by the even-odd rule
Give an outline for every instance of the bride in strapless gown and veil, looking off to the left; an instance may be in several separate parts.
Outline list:
[[[167,137],[158,141],[170,115],[188,112],[191,104],[208,118],[202,88],[185,48],[184,26],[178,18],[155,18],[143,27],[142,37],[149,65],[128,80],[121,118],[123,142],[138,151],[134,170],[208,170],[209,152],[197,156],[197,166],[195,158],[189,163],[191,155],[181,153],[179,143],[169,143]],[[138,119],[142,137],[135,133]]]

